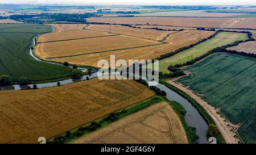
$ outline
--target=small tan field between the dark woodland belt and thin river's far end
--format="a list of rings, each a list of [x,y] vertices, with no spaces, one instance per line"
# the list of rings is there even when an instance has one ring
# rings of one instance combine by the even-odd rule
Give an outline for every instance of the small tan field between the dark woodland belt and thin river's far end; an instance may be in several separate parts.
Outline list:
[[[86,24],[47,24],[55,28],[56,32],[82,30]]]

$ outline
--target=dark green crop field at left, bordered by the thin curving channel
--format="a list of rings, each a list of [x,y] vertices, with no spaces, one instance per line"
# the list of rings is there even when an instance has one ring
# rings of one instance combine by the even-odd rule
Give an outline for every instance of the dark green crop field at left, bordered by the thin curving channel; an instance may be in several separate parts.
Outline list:
[[[71,69],[37,61],[29,54],[32,38],[51,32],[40,24],[0,24],[0,75],[9,74],[14,82],[25,76],[30,82],[57,81],[68,78]]]

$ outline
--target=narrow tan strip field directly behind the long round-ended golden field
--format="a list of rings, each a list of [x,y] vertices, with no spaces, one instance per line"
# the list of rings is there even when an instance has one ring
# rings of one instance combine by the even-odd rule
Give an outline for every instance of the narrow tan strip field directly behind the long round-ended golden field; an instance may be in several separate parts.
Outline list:
[[[109,32],[109,25],[94,25],[93,24],[93,25],[89,25],[88,27],[86,27],[86,29]],[[151,39],[151,40],[162,40],[168,34],[176,32],[176,31],[146,30],[146,29],[132,28],[132,27],[127,27],[127,26],[118,26],[118,25],[111,26],[111,31],[113,33],[142,37],[144,39]]]

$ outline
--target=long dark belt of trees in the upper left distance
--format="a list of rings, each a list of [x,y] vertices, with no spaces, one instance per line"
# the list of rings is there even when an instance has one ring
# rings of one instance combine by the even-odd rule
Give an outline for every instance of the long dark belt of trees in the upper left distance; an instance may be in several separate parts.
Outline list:
[[[85,18],[90,18],[97,16],[93,13],[85,13],[85,14],[49,14],[49,13],[42,13],[42,14],[33,14],[33,15],[11,15],[10,19],[13,20],[23,20],[26,22],[34,22],[34,23],[43,23],[43,19],[51,19],[52,22],[58,21],[66,21],[66,22],[79,22],[85,23]]]

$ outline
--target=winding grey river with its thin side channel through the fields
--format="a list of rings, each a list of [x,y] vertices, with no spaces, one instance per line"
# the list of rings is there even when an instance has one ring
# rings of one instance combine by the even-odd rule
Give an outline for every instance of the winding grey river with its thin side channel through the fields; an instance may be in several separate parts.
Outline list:
[[[33,39],[33,41],[34,41],[33,47],[35,47],[36,37]],[[31,57],[35,58],[35,60],[44,61],[44,60],[40,60],[39,58],[34,56],[34,52],[32,51],[32,49],[30,49],[30,55],[31,55]],[[44,61],[44,62],[48,62],[48,61]],[[54,63],[54,62],[48,62],[48,63],[61,65],[61,64]],[[80,68],[80,69],[87,70],[86,68]],[[67,85],[69,83],[79,82],[79,81],[86,80],[88,78],[90,79],[90,78],[95,78],[95,77],[97,77],[97,72],[92,73],[90,75],[83,76],[81,79],[67,79],[67,80],[60,81],[60,85]],[[55,87],[55,86],[57,86],[57,82],[39,83],[36,85],[39,89],[45,88],[45,87]],[[33,87],[33,84],[26,85],[26,86],[21,86],[21,85],[0,86],[0,91],[23,90],[23,89],[27,89],[28,87]],[[171,89],[168,89],[168,87],[166,87],[160,83],[156,87],[158,87],[160,90],[166,91],[166,94],[167,94],[166,97],[168,100],[170,100],[170,101],[175,100],[176,102],[181,103],[183,105],[183,107],[185,108],[185,110],[187,110],[187,113],[185,114],[185,121],[188,123],[189,126],[196,128],[196,134],[199,136],[199,139],[196,140],[196,143],[199,143],[199,144],[208,143],[208,140],[207,140],[208,125],[205,122],[205,120],[203,119],[203,117],[196,110],[196,108],[193,107],[192,104],[188,102],[188,100],[184,99],[179,94],[172,91]]]

